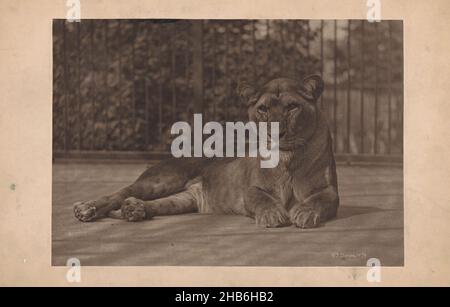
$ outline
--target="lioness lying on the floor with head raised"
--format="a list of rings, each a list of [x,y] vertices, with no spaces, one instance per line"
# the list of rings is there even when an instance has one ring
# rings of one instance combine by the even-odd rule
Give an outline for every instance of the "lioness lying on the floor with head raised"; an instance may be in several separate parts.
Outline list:
[[[336,216],[339,206],[330,132],[317,105],[320,76],[279,78],[261,89],[238,87],[251,121],[279,122],[280,161],[260,158],[179,158],[148,168],[133,184],[98,200],[77,202],[83,221],[102,217],[141,221],[190,212],[239,214],[257,225],[311,228]]]

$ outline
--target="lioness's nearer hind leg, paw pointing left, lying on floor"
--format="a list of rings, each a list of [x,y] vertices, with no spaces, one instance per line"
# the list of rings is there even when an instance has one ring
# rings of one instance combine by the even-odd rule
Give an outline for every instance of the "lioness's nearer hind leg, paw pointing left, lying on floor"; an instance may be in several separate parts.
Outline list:
[[[159,215],[175,215],[198,212],[197,195],[188,189],[167,197],[154,200],[140,200],[129,197],[120,210],[121,217],[129,222],[151,219]],[[113,214],[117,214],[113,213]]]

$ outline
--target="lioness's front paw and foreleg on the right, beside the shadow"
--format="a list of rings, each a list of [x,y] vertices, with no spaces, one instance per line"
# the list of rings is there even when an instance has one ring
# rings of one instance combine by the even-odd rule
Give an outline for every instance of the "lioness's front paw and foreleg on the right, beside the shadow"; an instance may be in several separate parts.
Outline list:
[[[289,210],[292,223],[299,228],[313,228],[329,219],[336,217],[339,207],[339,197],[332,186],[306,198],[302,203],[295,204]]]

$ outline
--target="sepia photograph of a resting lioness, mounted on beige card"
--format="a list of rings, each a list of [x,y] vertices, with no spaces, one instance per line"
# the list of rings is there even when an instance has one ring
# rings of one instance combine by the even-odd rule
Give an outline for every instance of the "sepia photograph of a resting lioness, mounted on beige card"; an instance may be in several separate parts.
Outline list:
[[[54,19],[52,265],[404,265],[403,21]]]

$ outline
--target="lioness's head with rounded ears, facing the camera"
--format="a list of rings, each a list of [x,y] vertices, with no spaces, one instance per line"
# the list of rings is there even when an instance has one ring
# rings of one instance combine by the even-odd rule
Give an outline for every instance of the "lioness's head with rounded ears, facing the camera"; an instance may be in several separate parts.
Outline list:
[[[249,120],[279,122],[281,150],[293,150],[314,134],[317,126],[317,99],[323,91],[323,80],[310,76],[298,82],[292,79],[274,79],[260,90],[243,84],[239,94],[248,103]]]

